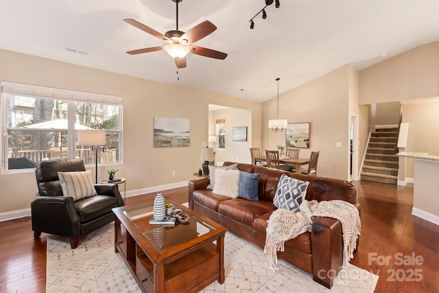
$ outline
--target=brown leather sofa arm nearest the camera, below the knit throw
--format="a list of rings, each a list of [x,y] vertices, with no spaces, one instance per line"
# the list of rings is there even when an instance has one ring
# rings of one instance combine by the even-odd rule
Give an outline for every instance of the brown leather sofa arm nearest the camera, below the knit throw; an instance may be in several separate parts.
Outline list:
[[[342,223],[318,217],[311,226],[313,280],[331,288],[343,265]]]

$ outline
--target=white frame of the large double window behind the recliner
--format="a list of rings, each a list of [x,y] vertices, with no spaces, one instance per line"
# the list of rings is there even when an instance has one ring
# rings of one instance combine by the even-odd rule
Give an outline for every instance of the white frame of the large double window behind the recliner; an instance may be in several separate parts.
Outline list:
[[[8,95],[16,95],[22,97],[40,98],[40,99],[54,99],[67,102],[67,117],[68,122],[67,130],[67,157],[75,157],[75,151],[78,145],[76,144],[76,137],[78,130],[74,129],[76,121],[75,107],[77,103],[91,103],[98,105],[115,106],[118,108],[118,130],[106,129],[106,132],[119,132],[118,135],[118,149],[117,154],[119,160],[112,163],[101,163],[101,165],[121,165],[123,164],[123,99],[122,97],[112,95],[102,95],[96,93],[86,93],[82,91],[72,91],[67,89],[56,89],[46,86],[35,86],[30,84],[19,84],[16,82],[1,81],[1,130],[3,135],[1,136],[1,174],[10,173],[23,173],[34,172],[35,168],[26,169],[8,169],[8,132],[10,131],[23,131],[23,128],[8,127],[8,119],[10,119],[10,109],[8,108]],[[35,131],[35,130],[33,130]],[[60,132],[62,130],[54,129],[54,132]],[[74,146],[73,148],[71,146]],[[93,163],[94,164],[94,163]],[[86,164],[86,166],[93,165],[92,163]]]

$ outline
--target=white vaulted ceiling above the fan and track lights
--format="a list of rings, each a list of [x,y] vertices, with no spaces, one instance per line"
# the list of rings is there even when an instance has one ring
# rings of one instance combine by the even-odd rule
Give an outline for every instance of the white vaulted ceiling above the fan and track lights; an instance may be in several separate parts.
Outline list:
[[[2,0],[0,48],[262,102],[347,64],[364,69],[439,40],[438,0],[280,0],[250,19],[265,0],[184,0],[179,30],[209,20],[217,30],[195,45],[225,60],[189,54],[177,79],[165,45],[125,23],[165,34],[176,28],[171,0]],[[86,56],[65,46],[87,51]],[[386,54],[383,57],[381,55]],[[1,66],[1,65],[0,65]]]

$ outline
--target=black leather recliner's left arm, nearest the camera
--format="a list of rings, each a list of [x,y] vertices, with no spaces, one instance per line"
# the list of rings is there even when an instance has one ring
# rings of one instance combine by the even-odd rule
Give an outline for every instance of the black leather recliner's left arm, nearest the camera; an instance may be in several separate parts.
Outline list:
[[[73,198],[41,196],[31,203],[32,230],[75,238],[80,235],[80,217]]]

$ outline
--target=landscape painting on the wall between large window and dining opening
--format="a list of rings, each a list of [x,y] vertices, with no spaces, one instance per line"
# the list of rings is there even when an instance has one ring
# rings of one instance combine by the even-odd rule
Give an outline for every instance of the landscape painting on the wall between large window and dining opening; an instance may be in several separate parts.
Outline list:
[[[154,148],[191,145],[189,119],[154,117]]]

